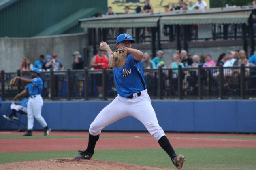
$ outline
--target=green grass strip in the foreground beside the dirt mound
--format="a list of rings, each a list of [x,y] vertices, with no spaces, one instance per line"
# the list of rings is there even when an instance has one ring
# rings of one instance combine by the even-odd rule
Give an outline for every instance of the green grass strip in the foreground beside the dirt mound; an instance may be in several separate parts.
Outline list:
[[[186,157],[186,170],[254,170],[256,148],[177,148]],[[0,153],[0,164],[14,161],[70,158],[76,151]],[[162,149],[98,150],[94,159],[175,168]]]

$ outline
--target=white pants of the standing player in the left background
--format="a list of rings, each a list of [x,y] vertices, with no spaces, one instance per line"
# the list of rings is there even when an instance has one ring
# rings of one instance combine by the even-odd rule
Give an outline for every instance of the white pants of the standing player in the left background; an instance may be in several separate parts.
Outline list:
[[[34,126],[34,117],[43,126],[46,127],[47,123],[41,115],[43,106],[43,98],[40,94],[30,97],[28,100],[28,130],[32,130]]]

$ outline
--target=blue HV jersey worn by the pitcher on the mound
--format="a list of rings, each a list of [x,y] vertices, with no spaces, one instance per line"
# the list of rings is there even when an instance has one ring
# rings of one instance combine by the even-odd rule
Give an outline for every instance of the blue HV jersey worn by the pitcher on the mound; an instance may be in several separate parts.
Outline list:
[[[128,97],[147,88],[142,62],[136,61],[131,54],[127,55],[123,67],[114,68],[114,78],[117,94],[122,97]]]

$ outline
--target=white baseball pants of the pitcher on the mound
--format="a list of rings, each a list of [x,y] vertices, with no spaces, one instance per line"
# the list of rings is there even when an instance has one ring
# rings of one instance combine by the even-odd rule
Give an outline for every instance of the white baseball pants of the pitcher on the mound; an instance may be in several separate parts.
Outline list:
[[[96,136],[103,128],[126,116],[133,116],[141,121],[157,141],[165,135],[158,124],[147,89],[142,91],[139,97],[137,93],[133,94],[132,99],[117,95],[109,105],[100,111],[90,125],[89,132]]]

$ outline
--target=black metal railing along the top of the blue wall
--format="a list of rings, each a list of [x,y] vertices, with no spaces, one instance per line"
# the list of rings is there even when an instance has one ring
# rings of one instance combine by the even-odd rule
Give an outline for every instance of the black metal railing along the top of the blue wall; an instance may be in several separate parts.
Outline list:
[[[13,99],[26,86],[14,76],[29,73],[1,71],[2,99]],[[256,97],[256,67],[189,67],[144,70],[145,82],[152,99],[248,99]],[[116,95],[112,69],[48,71],[40,74],[44,84],[42,96],[49,100],[113,99]],[[102,94],[99,90],[102,88]]]

